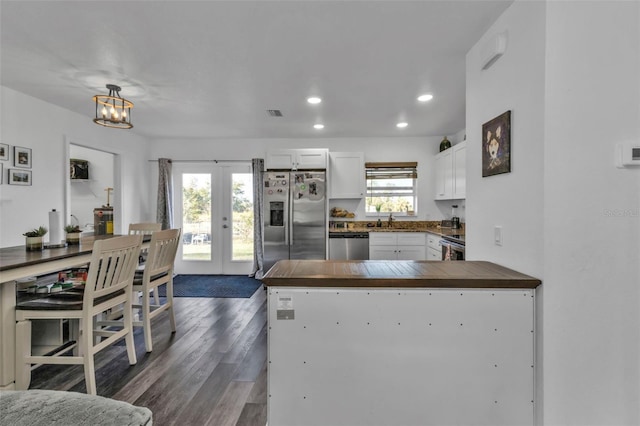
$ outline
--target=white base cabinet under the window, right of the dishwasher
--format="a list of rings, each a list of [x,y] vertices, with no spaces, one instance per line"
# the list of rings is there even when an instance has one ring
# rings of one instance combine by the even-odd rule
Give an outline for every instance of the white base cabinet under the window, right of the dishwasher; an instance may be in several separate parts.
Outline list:
[[[426,260],[424,232],[370,232],[371,260]]]

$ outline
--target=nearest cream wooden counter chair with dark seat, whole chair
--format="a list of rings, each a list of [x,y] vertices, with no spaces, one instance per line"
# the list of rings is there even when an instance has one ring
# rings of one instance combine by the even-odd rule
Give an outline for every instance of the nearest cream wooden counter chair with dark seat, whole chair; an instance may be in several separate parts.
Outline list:
[[[142,235],[98,240],[83,291],[53,293],[16,305],[16,388],[25,390],[31,381],[32,364],[83,364],[87,393],[96,394],[94,356],[124,338],[129,364],[136,363],[133,341],[132,292]],[[97,318],[116,306],[123,306],[121,329],[96,326]],[[78,324],[77,340],[53,354],[34,355],[31,321],[70,319]],[[65,355],[71,350],[71,356]]]

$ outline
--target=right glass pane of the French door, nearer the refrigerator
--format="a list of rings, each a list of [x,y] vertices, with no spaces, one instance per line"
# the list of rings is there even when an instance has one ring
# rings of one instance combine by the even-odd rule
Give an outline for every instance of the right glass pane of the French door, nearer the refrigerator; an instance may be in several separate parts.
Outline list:
[[[251,173],[233,173],[231,260],[253,260],[253,177]]]

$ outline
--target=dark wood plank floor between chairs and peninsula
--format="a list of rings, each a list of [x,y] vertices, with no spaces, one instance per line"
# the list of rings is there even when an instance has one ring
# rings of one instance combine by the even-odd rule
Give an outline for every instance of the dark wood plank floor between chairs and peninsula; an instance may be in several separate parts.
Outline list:
[[[177,332],[167,315],[153,322],[153,352],[136,329],[138,363],[123,342],[96,356],[98,395],[148,407],[155,425],[265,425],[266,292],[249,299],[175,298]],[[31,389],[85,392],[82,366],[42,366]]]

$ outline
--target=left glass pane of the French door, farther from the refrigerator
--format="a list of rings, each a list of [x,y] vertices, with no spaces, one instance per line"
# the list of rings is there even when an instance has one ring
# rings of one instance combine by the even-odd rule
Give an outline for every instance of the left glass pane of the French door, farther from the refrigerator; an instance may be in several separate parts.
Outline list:
[[[182,174],[182,259],[211,260],[211,174]]]

